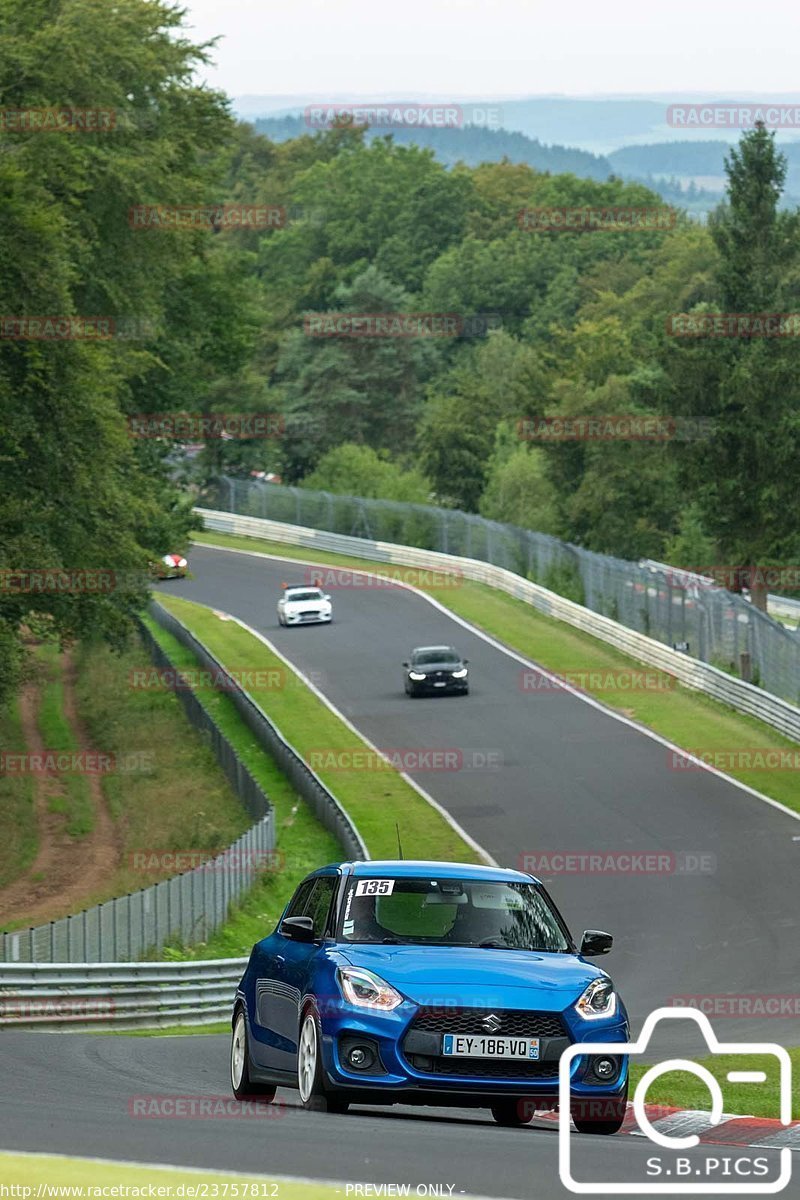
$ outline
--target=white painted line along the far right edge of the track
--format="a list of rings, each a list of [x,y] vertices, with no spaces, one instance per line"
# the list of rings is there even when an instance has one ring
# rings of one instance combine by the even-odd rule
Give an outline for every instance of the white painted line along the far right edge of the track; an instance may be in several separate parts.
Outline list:
[[[233,546],[215,546],[211,542],[205,542],[205,541],[196,541],[193,542],[193,545],[200,546],[204,550],[219,551],[225,554],[246,554],[249,558],[271,558],[277,563],[300,563],[303,566],[331,565],[330,563],[320,563],[319,560],[315,562],[312,558],[284,558],[282,554],[266,554],[264,552],[255,550],[237,550],[234,548]],[[385,565],[390,568],[397,564],[386,563]],[[795,812],[793,809],[787,808],[787,805],[781,804],[780,800],[774,800],[771,796],[764,796],[763,792],[758,792],[756,791],[754,787],[750,787],[747,784],[742,784],[741,780],[734,779],[733,775],[727,775],[723,770],[718,770],[716,767],[709,766],[709,763],[703,762],[702,758],[697,758],[687,750],[681,749],[681,746],[676,745],[674,742],[670,742],[668,738],[664,738],[660,733],[656,733],[655,730],[649,730],[645,725],[640,725],[638,721],[631,720],[630,716],[625,716],[622,713],[616,713],[613,708],[607,708],[606,704],[602,704],[599,700],[595,700],[594,696],[588,696],[585,692],[582,692],[577,688],[573,688],[571,684],[566,683],[566,680],[561,679],[552,671],[548,671],[546,667],[540,666],[539,662],[535,662],[533,659],[527,659],[523,654],[518,654],[517,650],[512,650],[511,647],[505,646],[503,642],[499,642],[495,637],[492,637],[491,634],[485,632],[482,629],[479,629],[476,625],[473,625],[463,617],[459,617],[458,613],[452,612],[450,608],[446,607],[446,605],[440,604],[438,600],[434,600],[433,596],[429,596],[425,592],[421,592],[420,588],[415,588],[410,583],[402,583],[399,580],[392,580],[391,576],[379,575],[375,571],[363,570],[360,566],[339,566],[339,569],[343,571],[351,571],[354,575],[368,575],[377,578],[390,578],[391,582],[395,584],[395,587],[405,588],[407,592],[413,592],[415,595],[421,596],[422,600],[426,600],[429,605],[433,605],[434,608],[438,608],[439,612],[443,612],[446,617],[450,617],[451,620],[455,620],[463,629],[468,629],[470,634],[475,635],[475,637],[480,637],[481,641],[487,642],[489,646],[494,647],[495,650],[500,650],[500,653],[505,654],[507,658],[515,659],[516,662],[522,662],[523,666],[533,667],[534,671],[539,671],[540,674],[542,674],[546,679],[549,679],[552,683],[558,683],[559,689],[561,691],[569,691],[577,700],[583,701],[584,704],[589,704],[591,708],[596,708],[600,713],[604,713],[613,720],[620,721],[620,724],[626,725],[631,730],[636,730],[638,733],[644,734],[644,737],[650,738],[652,742],[657,742],[658,745],[666,746],[668,750],[675,751],[676,754],[681,755],[682,758],[686,758],[688,762],[692,762],[696,766],[700,767],[703,770],[706,770],[710,775],[716,775],[718,779],[723,779],[727,784],[730,784],[733,787],[738,787],[739,791],[746,792],[748,796],[754,796],[757,800],[763,800],[764,804],[771,805],[771,808],[777,809],[780,812],[786,814],[786,816],[793,817],[795,821],[800,821],[800,812]],[[587,634],[585,636],[588,637],[590,635]],[[687,689],[687,691],[691,691],[691,689]],[[733,715],[736,715],[733,709],[730,709],[730,712],[733,713]],[[343,718],[343,720],[345,719]],[[356,730],[356,732],[359,731]],[[363,737],[363,734],[359,733],[359,737]]]

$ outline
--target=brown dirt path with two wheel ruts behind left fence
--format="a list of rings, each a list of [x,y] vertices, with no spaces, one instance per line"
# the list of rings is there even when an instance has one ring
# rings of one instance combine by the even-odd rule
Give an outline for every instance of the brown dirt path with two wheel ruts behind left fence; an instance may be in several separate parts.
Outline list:
[[[61,664],[66,719],[74,731],[79,749],[96,749],[90,745],[78,718],[74,661],[67,653]],[[40,684],[30,683],[24,688],[19,703],[25,748],[34,754],[50,749],[42,743],[36,722],[40,696]],[[95,824],[86,838],[76,840],[66,833],[66,816],[49,811],[49,802],[64,794],[58,775],[35,776],[38,852],[24,875],[0,889],[0,928],[19,920],[38,925],[79,912],[116,870],[120,858],[119,838],[100,786],[100,775],[86,778],[95,809]]]

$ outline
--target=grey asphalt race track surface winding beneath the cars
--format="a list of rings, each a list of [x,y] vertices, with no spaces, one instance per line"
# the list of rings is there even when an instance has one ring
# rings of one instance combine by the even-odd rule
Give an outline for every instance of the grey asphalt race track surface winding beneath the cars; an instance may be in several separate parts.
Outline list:
[[[708,772],[673,769],[664,745],[563,690],[531,689],[530,677],[523,682],[530,667],[407,589],[348,586],[343,572],[331,588],[331,626],[281,629],[281,582],[307,581],[305,566],[197,546],[191,568],[192,580],[161,588],[263,632],[378,746],[457,751],[458,769],[410,774],[499,863],[518,865],[522,854],[543,852],[714,856],[714,870],[696,875],[543,875],[573,932],[614,934],[613,953],[600,961],[634,1026],[678,996],[796,995],[800,841],[793,838],[800,824],[792,816]],[[438,642],[469,658],[471,694],[411,701],[401,662],[413,646]],[[269,709],[269,695],[259,698]],[[396,818],[402,827],[402,812],[391,814]],[[724,1040],[800,1044],[796,1019],[715,1024]],[[651,1056],[702,1052],[697,1038],[672,1030],[651,1049]],[[437,1183],[445,1195],[450,1186],[453,1195],[567,1195],[554,1128],[501,1129],[483,1112],[397,1108],[325,1116],[300,1110],[296,1093],[285,1092],[277,1114],[264,1118],[132,1115],[136,1097],[227,1098],[225,1037],[4,1032],[0,1078],[2,1148],[342,1184]],[[638,1183],[648,1178],[652,1151],[640,1138],[583,1138],[577,1172]],[[703,1170],[720,1152],[685,1153],[692,1170]],[[774,1151],[759,1153],[775,1160]],[[792,1187],[786,1195],[798,1194]]]

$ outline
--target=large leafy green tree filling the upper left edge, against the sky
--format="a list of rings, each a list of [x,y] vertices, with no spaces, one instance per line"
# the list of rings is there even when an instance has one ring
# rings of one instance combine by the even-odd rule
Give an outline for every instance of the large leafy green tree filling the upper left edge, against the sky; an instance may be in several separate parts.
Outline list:
[[[0,342],[0,703],[19,678],[29,614],[61,638],[120,643],[146,601],[149,560],[192,524],[122,413],[150,361],[146,336],[108,336],[126,318],[157,324],[168,283],[212,236],[154,238],[128,223],[137,204],[210,198],[231,127],[223,98],[192,82],[205,52],[175,36],[180,22],[158,0],[0,0],[4,109],[114,116],[104,132],[2,132],[0,312],[108,324],[85,340]],[[172,335],[193,336],[187,325]],[[92,576],[65,589],[37,574],[44,590],[32,592],[8,574],[58,570],[104,574],[96,590]]]

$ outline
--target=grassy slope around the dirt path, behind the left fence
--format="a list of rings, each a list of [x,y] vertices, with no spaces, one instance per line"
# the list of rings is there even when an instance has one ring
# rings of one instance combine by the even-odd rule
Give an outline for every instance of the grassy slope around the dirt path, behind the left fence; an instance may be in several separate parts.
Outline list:
[[[54,648],[44,654],[52,673]],[[82,907],[91,907],[113,896],[150,887],[175,874],[168,857],[194,853],[211,857],[231,845],[248,829],[253,818],[229,785],[211,749],[188,724],[173,692],[130,685],[132,672],[150,668],[150,656],[136,636],[118,654],[100,643],[82,643],[74,649],[78,714],[91,746],[100,752],[139,757],[144,769],[109,772],[100,776],[118,835],[118,863],[108,878],[88,890]],[[66,725],[59,688],[47,684],[42,737],[47,749],[76,744]],[[12,709],[0,719],[0,745],[22,746],[22,731]],[[4,724],[5,722],[5,724]],[[2,737],[8,730],[8,742]],[[88,788],[88,781],[78,776]],[[71,779],[62,775],[66,782]],[[86,792],[90,797],[90,793]],[[82,799],[85,798],[82,793]],[[6,808],[7,803],[7,808]],[[70,797],[68,803],[73,800]],[[74,810],[73,810],[74,812]],[[6,818],[6,815],[8,817]],[[88,822],[86,822],[88,823]],[[35,856],[36,829],[32,821],[32,779],[0,778],[0,883],[22,875]],[[73,826],[74,828],[74,826]],[[149,852],[146,869],[134,856]],[[79,852],[79,851],[77,851]],[[48,918],[67,916],[53,898]],[[26,928],[25,919],[5,923],[4,929]]]

